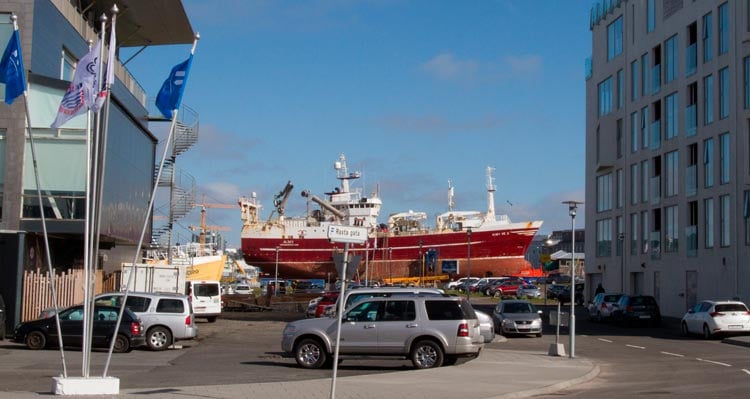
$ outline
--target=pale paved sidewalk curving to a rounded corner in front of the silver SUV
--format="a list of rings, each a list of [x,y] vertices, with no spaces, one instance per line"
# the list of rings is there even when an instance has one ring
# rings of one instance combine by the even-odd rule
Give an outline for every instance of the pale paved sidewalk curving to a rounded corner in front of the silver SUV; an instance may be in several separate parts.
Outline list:
[[[489,399],[524,398],[553,393],[595,378],[599,367],[583,358],[548,356],[546,352],[485,349],[477,359],[452,367],[338,378],[336,398]],[[0,392],[0,399],[39,398],[47,392]],[[192,386],[120,390],[111,396],[65,398],[272,398],[331,397],[331,379],[262,384]]]

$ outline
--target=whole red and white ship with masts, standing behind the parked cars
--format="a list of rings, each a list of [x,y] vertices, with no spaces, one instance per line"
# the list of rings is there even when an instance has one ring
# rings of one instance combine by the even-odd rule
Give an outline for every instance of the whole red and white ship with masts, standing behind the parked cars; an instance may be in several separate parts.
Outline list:
[[[308,201],[320,205],[303,217],[284,215],[291,182],[275,197],[277,217],[259,217],[261,205],[254,193],[240,198],[242,251],[248,264],[270,275],[278,271],[284,279],[335,279],[333,254],[342,252],[344,244],[330,242],[327,232],[329,225],[338,224],[369,229],[365,244],[349,247],[350,253],[361,256],[361,279],[506,276],[531,270],[524,254],[542,222],[512,223],[506,215],[495,215],[493,168],[487,168],[487,212],[454,211],[449,184],[449,210],[437,217],[435,228],[428,228],[424,212],[397,213],[379,223],[378,193],[363,196],[361,190],[350,188],[350,180],[360,174],[348,172],[343,154],[334,167],[340,186],[326,193],[327,200],[303,192]]]

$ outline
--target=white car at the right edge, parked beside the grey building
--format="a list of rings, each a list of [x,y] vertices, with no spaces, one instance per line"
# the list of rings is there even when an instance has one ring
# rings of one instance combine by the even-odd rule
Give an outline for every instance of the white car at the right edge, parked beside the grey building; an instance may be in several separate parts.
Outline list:
[[[703,301],[682,316],[682,333],[714,335],[750,333],[750,312],[740,301]]]

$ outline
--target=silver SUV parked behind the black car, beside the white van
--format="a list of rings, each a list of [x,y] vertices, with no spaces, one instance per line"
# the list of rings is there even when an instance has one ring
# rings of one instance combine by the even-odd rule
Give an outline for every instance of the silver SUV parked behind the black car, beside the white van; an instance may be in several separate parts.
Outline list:
[[[119,307],[124,295],[124,292],[100,294],[95,302]],[[164,350],[175,341],[198,336],[193,308],[185,295],[129,292],[126,306],[141,319],[146,344],[151,350]]]

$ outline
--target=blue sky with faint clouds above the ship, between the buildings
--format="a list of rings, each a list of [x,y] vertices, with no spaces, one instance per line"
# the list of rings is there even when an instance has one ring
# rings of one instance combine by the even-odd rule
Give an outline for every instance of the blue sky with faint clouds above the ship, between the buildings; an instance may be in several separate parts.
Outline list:
[[[201,35],[183,98],[200,138],[177,164],[199,201],[256,192],[267,217],[291,180],[287,214],[299,215],[301,190],[335,187],[344,153],[364,193],[379,187],[382,221],[407,210],[432,221],[447,210],[449,179],[457,209],[486,210],[492,166],[497,213],[570,228],[561,201],[584,199],[591,2],[183,4]],[[155,96],[189,50],[154,47],[127,67]],[[198,210],[180,224],[197,220]],[[223,235],[239,245],[238,210],[209,209],[208,224],[230,227]]]

